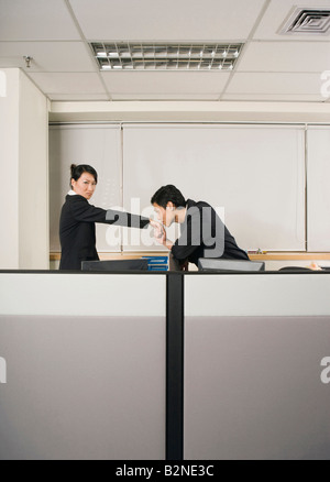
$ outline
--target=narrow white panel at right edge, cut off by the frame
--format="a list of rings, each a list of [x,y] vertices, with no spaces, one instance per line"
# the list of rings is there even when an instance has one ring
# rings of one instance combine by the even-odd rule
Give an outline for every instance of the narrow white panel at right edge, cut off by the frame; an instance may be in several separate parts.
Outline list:
[[[330,128],[307,130],[308,251],[330,251]]]

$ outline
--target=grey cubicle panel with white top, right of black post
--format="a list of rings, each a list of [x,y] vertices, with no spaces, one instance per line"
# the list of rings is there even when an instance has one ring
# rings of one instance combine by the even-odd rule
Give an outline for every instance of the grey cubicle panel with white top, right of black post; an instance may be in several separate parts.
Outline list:
[[[330,278],[185,277],[185,459],[330,459]]]

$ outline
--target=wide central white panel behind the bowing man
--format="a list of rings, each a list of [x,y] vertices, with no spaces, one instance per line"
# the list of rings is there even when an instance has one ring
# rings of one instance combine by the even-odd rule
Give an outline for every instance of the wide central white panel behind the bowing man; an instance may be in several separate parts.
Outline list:
[[[148,212],[166,184],[222,209],[244,250],[306,249],[304,127],[125,124],[124,209]],[[136,244],[124,249],[153,249]]]

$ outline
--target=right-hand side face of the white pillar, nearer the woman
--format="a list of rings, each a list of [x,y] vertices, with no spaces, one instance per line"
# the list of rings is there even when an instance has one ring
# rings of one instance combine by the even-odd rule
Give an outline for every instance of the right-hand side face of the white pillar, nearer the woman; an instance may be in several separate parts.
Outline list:
[[[47,140],[47,99],[20,70],[20,269],[48,269]]]

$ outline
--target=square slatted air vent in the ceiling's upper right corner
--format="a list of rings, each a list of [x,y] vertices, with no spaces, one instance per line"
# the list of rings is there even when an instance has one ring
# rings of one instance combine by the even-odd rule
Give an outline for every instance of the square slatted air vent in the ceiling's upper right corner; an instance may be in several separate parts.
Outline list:
[[[283,35],[329,35],[330,9],[295,8],[278,33]]]

